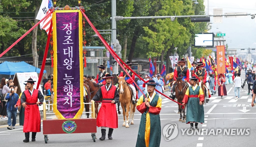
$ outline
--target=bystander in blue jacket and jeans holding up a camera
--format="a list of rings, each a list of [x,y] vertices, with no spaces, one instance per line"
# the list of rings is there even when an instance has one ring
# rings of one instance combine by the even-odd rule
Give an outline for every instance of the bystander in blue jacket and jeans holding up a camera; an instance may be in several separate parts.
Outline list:
[[[8,114],[8,125],[9,127],[7,127],[7,129],[12,130],[15,129],[14,126],[16,124],[16,114],[17,114],[17,108],[15,108],[15,105],[19,99],[19,95],[16,92],[17,87],[14,86],[10,86],[9,90],[10,93],[7,93],[5,99],[7,100],[7,114]],[[13,121],[11,120],[11,118],[13,117]]]

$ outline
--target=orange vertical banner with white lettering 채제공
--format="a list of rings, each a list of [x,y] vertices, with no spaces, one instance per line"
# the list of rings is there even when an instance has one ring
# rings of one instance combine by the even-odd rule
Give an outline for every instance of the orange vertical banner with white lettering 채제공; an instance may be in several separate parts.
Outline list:
[[[225,74],[225,46],[216,46],[217,48],[217,74]]]

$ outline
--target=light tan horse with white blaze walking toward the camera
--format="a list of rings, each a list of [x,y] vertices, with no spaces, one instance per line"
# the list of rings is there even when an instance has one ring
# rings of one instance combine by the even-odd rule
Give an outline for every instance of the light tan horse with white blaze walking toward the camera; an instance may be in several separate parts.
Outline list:
[[[135,112],[136,104],[134,105],[132,104],[132,91],[130,87],[127,86],[124,77],[119,77],[118,87],[120,89],[119,101],[123,109],[123,117],[124,117],[124,122],[122,126],[123,127],[125,126],[125,128],[129,128],[129,111],[131,110],[130,111],[130,118],[132,119],[131,124],[134,124],[133,120],[134,120],[134,112]],[[126,116],[126,124],[125,124],[125,116]]]

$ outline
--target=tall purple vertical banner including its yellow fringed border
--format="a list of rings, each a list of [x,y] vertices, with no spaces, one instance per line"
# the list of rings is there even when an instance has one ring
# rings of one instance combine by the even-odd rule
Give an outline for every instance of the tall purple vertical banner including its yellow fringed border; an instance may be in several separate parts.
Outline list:
[[[54,112],[60,119],[77,119],[83,105],[82,14],[80,10],[53,13]]]

